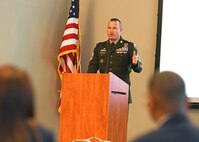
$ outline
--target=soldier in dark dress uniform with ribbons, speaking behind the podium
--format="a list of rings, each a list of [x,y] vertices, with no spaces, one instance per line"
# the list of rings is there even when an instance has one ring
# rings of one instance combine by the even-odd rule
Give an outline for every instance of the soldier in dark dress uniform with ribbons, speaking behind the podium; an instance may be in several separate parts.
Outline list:
[[[131,70],[140,73],[142,63],[134,43],[121,37],[122,24],[117,18],[108,22],[107,35],[109,39],[96,45],[89,62],[88,73],[112,72],[130,86]],[[132,102],[129,93],[129,103]]]

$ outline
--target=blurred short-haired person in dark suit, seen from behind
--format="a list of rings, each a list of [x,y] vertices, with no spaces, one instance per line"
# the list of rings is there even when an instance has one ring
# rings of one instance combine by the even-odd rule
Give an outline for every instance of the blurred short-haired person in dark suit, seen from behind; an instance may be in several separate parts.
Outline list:
[[[187,116],[188,99],[179,75],[162,72],[150,80],[148,107],[160,128],[134,142],[199,142],[199,129]]]

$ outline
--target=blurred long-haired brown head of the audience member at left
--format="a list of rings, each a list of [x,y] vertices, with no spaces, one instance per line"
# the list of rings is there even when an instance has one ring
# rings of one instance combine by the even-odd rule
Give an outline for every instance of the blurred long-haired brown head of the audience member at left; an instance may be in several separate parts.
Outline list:
[[[0,66],[0,123],[34,116],[33,92],[28,75],[11,65]]]

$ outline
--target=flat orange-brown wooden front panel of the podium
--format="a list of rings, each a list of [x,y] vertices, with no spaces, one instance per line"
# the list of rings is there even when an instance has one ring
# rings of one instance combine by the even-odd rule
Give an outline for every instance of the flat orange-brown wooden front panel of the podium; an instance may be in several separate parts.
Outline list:
[[[107,139],[108,74],[63,74],[60,142]]]

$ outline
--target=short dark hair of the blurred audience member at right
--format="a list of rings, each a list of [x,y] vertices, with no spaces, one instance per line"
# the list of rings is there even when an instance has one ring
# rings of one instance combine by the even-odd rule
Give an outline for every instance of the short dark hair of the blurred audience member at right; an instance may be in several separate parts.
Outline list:
[[[183,79],[174,72],[156,73],[149,82],[149,91],[156,91],[159,104],[171,110],[180,108],[186,100]]]

